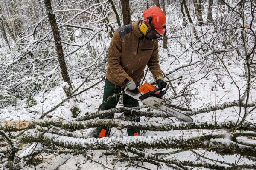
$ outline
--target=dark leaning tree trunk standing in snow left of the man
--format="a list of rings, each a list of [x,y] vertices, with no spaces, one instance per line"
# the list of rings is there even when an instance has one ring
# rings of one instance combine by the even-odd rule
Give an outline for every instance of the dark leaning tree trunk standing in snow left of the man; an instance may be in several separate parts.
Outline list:
[[[67,96],[70,96],[72,84],[71,84],[70,77],[69,77],[69,74],[67,71],[67,65],[65,62],[63,48],[62,48],[62,44],[61,44],[60,32],[58,30],[58,25],[56,22],[55,15],[52,11],[51,1],[44,0],[44,4],[45,4],[45,8],[46,8],[46,13],[47,13],[47,16],[49,18],[49,22],[50,22],[50,25],[52,28],[52,34],[53,34],[53,37],[55,40],[55,46],[56,46],[56,50],[57,50],[57,54],[58,54],[58,62],[60,63],[60,68],[61,68],[61,75],[62,75],[63,81],[67,82],[69,85],[69,88],[64,88],[64,91],[67,94]]]

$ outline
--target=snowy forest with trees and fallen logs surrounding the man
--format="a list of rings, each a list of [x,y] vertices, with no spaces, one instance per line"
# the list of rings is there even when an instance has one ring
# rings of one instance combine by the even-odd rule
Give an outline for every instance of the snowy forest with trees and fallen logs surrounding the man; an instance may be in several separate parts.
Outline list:
[[[167,18],[163,103],[194,122],[142,104],[134,109],[142,121],[129,122],[136,116],[123,116],[131,109],[122,99],[100,111],[113,31],[155,5]],[[0,0],[0,170],[255,170],[255,8],[255,0]],[[147,68],[143,82],[156,85]],[[111,136],[95,138],[99,125]]]

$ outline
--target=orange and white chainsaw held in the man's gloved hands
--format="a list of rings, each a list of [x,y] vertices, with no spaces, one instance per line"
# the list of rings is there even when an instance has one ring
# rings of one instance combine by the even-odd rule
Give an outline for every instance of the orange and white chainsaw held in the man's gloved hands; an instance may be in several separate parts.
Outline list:
[[[150,83],[146,82],[145,84],[140,86],[138,94],[129,91],[128,87],[125,87],[124,91],[125,94],[131,96],[136,100],[140,100],[143,104],[148,105],[149,107],[154,108],[156,110],[160,109],[161,111],[168,113],[170,117],[176,117],[177,119],[186,122],[193,122],[193,119],[189,116],[186,116],[184,113],[181,113],[180,111],[177,111],[173,108],[169,108],[161,104],[162,96],[166,94],[168,88],[169,85],[166,87],[165,90],[163,90],[162,87],[156,88],[154,85],[151,85]]]

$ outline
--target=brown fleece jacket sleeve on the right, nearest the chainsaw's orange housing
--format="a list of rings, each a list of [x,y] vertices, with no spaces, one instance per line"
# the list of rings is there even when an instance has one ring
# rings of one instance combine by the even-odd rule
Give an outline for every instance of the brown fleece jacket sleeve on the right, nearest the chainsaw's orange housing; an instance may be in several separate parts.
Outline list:
[[[158,77],[163,77],[161,68],[159,66],[159,57],[158,57],[158,40],[154,45],[154,50],[151,55],[151,58],[148,61],[149,71],[153,74],[154,78],[157,80]]]

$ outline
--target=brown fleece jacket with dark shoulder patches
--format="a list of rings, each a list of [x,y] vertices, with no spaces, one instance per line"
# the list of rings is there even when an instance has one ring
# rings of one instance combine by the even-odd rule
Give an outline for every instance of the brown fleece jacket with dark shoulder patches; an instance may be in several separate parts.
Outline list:
[[[140,33],[139,20],[115,31],[108,48],[106,78],[124,87],[131,79],[138,84],[148,65],[154,78],[163,77],[158,59],[158,40],[147,40]]]

